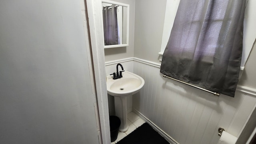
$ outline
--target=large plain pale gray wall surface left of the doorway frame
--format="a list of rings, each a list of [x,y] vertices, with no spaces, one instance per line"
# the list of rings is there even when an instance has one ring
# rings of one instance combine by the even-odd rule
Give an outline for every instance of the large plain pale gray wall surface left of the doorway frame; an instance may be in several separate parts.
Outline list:
[[[0,1],[0,143],[99,143],[79,1]]]

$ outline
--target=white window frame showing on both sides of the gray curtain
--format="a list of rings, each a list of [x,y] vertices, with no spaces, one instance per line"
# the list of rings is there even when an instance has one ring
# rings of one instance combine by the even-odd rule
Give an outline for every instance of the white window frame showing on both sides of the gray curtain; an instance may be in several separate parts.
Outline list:
[[[162,55],[164,54],[164,50],[168,43],[170,33],[172,30],[172,26],[174,23],[174,19],[178,10],[180,0],[167,0],[166,1],[166,11],[164,17],[164,27],[162,34],[162,43],[160,52],[158,52],[159,60],[162,61]],[[244,70],[244,66],[252,50],[254,41],[256,40],[256,17],[253,15],[256,13],[256,1],[248,0],[247,6],[245,9],[244,16],[244,39],[243,39],[243,54],[242,54],[242,62],[240,66],[240,74],[241,71]]]

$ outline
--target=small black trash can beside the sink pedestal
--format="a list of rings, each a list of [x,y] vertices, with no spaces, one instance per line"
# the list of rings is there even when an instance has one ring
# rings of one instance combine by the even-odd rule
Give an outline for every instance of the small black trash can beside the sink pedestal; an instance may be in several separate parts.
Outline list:
[[[109,122],[110,122],[110,138],[111,138],[111,142],[114,142],[117,139],[118,129],[121,124],[121,121],[117,116],[109,116]]]

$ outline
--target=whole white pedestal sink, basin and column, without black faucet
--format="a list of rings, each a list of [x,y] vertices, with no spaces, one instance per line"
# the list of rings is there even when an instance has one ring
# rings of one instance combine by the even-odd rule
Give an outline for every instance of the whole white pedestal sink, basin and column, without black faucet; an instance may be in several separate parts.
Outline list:
[[[116,80],[112,79],[112,76],[107,77],[107,90],[108,94],[114,96],[116,116],[120,118],[121,125],[120,132],[126,132],[128,130],[127,124],[127,96],[131,96],[140,91],[144,86],[144,80],[142,77],[132,73],[123,72],[122,78]]]

